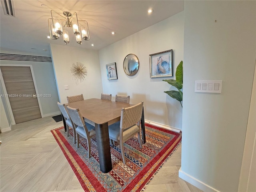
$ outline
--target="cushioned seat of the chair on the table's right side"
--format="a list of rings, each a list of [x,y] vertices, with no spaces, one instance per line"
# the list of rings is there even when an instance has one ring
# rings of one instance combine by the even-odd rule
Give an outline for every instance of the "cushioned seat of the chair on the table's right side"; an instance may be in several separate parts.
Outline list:
[[[134,124],[123,131],[123,138],[127,140],[133,133],[137,133],[140,128]],[[109,137],[114,140],[120,140],[120,121],[108,126]]]

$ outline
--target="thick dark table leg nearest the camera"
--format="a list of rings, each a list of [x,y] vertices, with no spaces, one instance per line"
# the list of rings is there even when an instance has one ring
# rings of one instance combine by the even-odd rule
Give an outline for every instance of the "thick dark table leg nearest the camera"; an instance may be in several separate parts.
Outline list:
[[[112,170],[110,144],[108,135],[108,123],[95,124],[97,148],[100,161],[100,170],[103,173],[108,173]]]

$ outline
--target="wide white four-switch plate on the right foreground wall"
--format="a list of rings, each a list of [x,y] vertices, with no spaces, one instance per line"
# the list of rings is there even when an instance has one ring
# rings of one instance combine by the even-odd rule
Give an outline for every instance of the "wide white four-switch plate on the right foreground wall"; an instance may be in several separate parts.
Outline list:
[[[221,90],[222,80],[195,81],[195,92],[221,93]]]

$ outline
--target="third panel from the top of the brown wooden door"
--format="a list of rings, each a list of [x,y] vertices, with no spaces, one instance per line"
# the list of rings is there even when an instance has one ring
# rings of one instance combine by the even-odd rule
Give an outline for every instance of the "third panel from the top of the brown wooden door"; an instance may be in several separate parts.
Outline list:
[[[33,97],[9,97],[12,110],[20,110],[38,106],[37,98]]]

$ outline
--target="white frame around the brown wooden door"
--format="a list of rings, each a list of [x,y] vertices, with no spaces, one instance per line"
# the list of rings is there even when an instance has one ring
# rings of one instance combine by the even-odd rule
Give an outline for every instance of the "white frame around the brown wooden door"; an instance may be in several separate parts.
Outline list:
[[[36,90],[36,94],[38,95],[38,89],[37,89],[37,86],[36,86],[36,78],[34,76],[34,71],[33,71],[33,67],[32,65],[22,65],[22,64],[2,64],[1,63],[1,66],[10,66],[10,67],[30,67],[30,71],[31,71],[31,75],[32,75],[32,79],[33,79],[33,83],[34,83],[34,87],[35,87],[35,90]],[[6,86],[5,86],[5,83],[4,83],[4,78],[3,78],[3,75],[2,75],[2,70],[0,68],[0,80],[1,80],[1,85],[2,85],[2,88],[4,90],[4,94],[7,94],[7,90],[6,90]],[[14,115],[12,113],[12,107],[11,107],[11,104],[10,104],[10,100],[8,97],[5,97],[6,98],[6,103],[7,103],[7,107],[8,107],[8,110],[9,110],[9,114],[10,114],[10,117],[11,117],[11,120],[12,120],[12,125],[15,125],[16,122],[14,120]],[[37,101],[38,101],[38,106],[39,106],[39,110],[40,110],[40,113],[41,113],[41,117],[42,117],[42,106],[41,106],[41,102],[40,102],[40,97],[36,97],[37,98]]]

